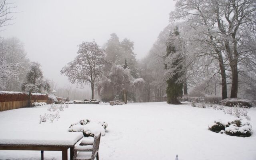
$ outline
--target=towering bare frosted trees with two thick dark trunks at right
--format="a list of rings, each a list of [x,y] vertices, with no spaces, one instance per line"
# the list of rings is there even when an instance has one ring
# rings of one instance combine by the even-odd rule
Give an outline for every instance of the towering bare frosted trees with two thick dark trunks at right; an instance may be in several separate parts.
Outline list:
[[[223,98],[227,97],[226,70],[231,71],[230,97],[237,97],[240,62],[251,56],[244,40],[246,31],[255,34],[255,6],[255,0],[176,0],[176,10],[170,13],[170,20],[186,20],[191,30],[198,31],[197,42],[213,49],[206,54],[219,61]]]

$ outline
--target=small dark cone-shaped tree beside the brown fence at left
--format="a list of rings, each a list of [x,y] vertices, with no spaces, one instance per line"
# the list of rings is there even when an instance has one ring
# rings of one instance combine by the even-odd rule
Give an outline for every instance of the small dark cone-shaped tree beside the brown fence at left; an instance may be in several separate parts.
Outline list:
[[[50,84],[44,80],[40,64],[37,62],[32,62],[30,71],[26,75],[26,80],[22,84],[22,91],[27,91],[29,93],[28,107],[31,106],[32,93],[42,93],[43,91],[50,92]]]

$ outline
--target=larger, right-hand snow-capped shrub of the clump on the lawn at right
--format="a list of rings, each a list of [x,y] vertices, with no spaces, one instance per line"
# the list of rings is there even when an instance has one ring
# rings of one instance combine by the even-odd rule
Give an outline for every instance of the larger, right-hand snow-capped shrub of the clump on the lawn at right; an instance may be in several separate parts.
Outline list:
[[[226,134],[230,136],[249,137],[251,136],[252,125],[246,119],[238,119],[225,128]]]

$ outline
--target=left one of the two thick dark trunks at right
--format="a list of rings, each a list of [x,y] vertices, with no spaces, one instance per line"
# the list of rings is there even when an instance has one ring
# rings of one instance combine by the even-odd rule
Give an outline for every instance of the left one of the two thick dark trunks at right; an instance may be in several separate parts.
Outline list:
[[[227,96],[227,81],[226,81],[226,70],[222,58],[222,54],[218,53],[218,60],[220,65],[220,75],[221,75],[221,86],[222,86],[222,100],[228,98]]]

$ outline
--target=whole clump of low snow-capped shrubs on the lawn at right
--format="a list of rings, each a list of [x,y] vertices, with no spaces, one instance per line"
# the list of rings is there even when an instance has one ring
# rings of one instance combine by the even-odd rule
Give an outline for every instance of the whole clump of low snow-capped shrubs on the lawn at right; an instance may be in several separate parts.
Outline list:
[[[209,130],[226,133],[230,136],[249,137],[252,135],[252,125],[247,119],[236,118],[231,121],[217,120],[208,125]]]

